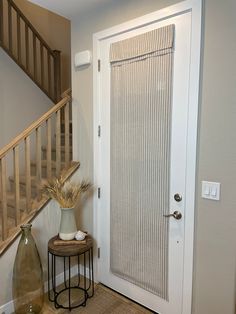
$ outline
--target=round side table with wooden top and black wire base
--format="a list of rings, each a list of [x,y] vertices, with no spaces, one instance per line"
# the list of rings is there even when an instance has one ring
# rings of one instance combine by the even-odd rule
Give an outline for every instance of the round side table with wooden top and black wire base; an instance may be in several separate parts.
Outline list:
[[[93,240],[88,235],[86,244],[54,245],[56,239],[58,239],[58,236],[48,241],[48,299],[54,302],[55,308],[71,311],[79,306],[86,306],[86,301],[94,294]],[[76,265],[73,266],[73,274],[71,269],[72,258],[76,262]],[[60,288],[57,288],[56,269],[59,260],[62,260],[64,266],[64,280]],[[68,265],[68,271],[66,265]],[[76,274],[74,273],[75,268]],[[72,283],[71,276],[76,276],[76,284]],[[73,295],[78,292],[78,302],[73,300],[72,303],[72,292]],[[60,301],[62,294],[64,297],[63,302]],[[66,301],[65,296],[68,296]]]

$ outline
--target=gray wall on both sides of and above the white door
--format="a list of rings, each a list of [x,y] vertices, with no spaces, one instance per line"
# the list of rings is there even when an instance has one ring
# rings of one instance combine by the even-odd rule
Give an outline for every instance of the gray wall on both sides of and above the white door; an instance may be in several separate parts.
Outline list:
[[[111,1],[72,20],[75,52],[92,50],[95,32],[174,4],[175,0]],[[236,1],[205,1],[194,259],[195,314],[235,313],[236,242]],[[74,106],[79,132],[75,142],[81,173],[93,178],[92,67],[75,71]],[[201,180],[222,183],[219,202],[200,196]],[[80,224],[92,232],[92,202]]]

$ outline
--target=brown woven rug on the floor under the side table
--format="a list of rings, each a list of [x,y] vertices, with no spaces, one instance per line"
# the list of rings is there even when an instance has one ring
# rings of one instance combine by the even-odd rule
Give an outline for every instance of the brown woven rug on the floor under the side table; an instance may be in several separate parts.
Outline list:
[[[44,314],[150,314],[153,313],[129,299],[98,284],[94,296],[87,301],[86,307],[79,307],[69,312],[68,310],[55,309],[53,303],[46,301]]]

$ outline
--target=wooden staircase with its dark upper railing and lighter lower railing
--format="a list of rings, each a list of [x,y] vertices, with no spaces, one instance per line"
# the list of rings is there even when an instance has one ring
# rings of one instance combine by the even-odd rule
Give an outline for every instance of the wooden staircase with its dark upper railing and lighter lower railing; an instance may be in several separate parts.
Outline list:
[[[60,52],[51,50],[12,0],[0,0],[0,46],[56,103],[0,150],[0,255],[49,201],[41,186],[67,180],[72,161],[71,91],[61,95]]]

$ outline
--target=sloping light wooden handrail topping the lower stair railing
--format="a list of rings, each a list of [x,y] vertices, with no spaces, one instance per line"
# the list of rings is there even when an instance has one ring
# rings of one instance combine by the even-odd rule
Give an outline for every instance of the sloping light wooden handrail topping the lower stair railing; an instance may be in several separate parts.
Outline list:
[[[33,131],[35,131],[42,123],[46,122],[55,112],[60,110],[68,101],[70,100],[70,96],[64,97],[58,104],[53,106],[48,112],[46,112],[43,116],[41,116],[38,120],[33,122],[27,129],[25,129],[21,134],[16,136],[9,144],[4,146],[0,150],[0,159],[3,158],[7,152],[13,148],[15,148],[22,140],[28,137]]]

